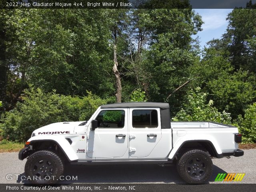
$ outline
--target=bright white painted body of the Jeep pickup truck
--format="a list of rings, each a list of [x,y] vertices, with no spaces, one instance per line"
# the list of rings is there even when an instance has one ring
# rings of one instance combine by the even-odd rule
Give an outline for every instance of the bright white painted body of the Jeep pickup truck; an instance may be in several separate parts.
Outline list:
[[[152,109],[158,112],[156,128],[133,128],[132,110]],[[124,110],[123,128],[96,128],[91,122],[102,110]],[[161,129],[160,108],[98,108],[90,120],[60,122],[39,128],[28,141],[53,140],[58,143],[70,161],[122,161],[122,160],[172,160],[186,141],[211,142],[218,154],[238,149],[234,141],[236,127],[212,122],[170,122],[171,129]],[[45,134],[44,134],[45,133]],[[125,137],[117,137],[122,134]],[[147,136],[155,134],[155,137]],[[70,138],[72,144],[66,140]],[[173,145],[173,146],[172,146]]]

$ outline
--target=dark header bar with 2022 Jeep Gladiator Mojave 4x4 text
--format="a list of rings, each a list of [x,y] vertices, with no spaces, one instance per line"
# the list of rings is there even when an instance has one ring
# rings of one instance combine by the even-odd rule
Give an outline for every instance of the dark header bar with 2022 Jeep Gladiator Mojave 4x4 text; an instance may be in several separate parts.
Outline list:
[[[1,9],[233,9],[256,8],[256,0],[1,0]]]

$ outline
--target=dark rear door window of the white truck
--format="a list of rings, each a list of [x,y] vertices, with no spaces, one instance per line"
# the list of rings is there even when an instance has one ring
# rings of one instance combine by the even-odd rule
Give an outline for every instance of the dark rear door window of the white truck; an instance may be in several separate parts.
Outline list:
[[[157,110],[133,110],[132,126],[134,128],[158,127]]]

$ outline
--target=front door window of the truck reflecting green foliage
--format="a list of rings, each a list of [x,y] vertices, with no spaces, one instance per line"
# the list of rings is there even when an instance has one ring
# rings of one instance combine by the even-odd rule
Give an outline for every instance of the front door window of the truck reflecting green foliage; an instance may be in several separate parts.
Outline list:
[[[103,110],[96,120],[98,120],[98,128],[123,128],[124,110]]]

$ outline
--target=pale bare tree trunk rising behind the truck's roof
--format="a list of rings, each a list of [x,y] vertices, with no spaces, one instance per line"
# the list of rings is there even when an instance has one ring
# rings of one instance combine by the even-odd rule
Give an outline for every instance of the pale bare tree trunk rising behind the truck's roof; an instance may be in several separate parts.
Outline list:
[[[120,103],[122,101],[122,85],[121,85],[121,78],[120,73],[117,69],[118,62],[117,62],[117,54],[116,54],[116,33],[114,35],[114,66],[113,66],[113,72],[115,74],[116,78],[116,102]]]

